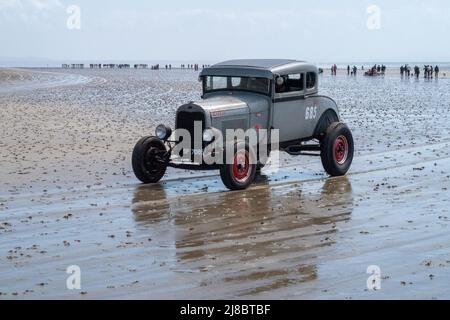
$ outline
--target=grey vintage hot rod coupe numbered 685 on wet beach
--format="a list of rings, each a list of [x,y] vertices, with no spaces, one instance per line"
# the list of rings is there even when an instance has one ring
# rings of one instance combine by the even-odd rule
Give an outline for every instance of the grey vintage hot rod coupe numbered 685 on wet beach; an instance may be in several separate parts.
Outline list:
[[[353,136],[340,121],[336,102],[319,95],[314,65],[295,60],[232,60],[204,69],[199,79],[202,99],[179,107],[175,132],[163,124],[156,128],[155,136],[136,144],[132,165],[141,182],[157,183],[166,169],[173,167],[219,170],[227,188],[249,187],[267,159],[259,157],[260,137],[253,144],[246,139],[223,138],[228,130],[239,129],[265,130],[269,136],[277,130],[279,150],[293,156],[320,156],[331,176],[348,172]],[[190,134],[191,147],[177,150],[188,142],[178,133],[181,130]],[[264,146],[268,153],[273,149],[271,141]],[[217,155],[227,161],[204,160],[208,156],[217,159]]]

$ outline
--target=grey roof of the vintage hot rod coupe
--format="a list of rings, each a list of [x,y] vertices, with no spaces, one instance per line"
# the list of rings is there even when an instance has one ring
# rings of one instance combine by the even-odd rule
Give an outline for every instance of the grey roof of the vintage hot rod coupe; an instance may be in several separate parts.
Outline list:
[[[305,61],[291,59],[242,59],[217,63],[204,69],[200,76],[249,76],[273,78],[275,74],[317,72],[317,68]]]

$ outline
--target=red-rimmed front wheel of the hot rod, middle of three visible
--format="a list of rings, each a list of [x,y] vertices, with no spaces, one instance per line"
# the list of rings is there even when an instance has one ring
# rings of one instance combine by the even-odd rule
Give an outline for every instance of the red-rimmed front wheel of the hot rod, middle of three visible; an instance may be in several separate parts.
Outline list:
[[[255,155],[247,143],[240,142],[235,145],[232,159],[233,164],[226,164],[220,169],[222,182],[230,190],[245,190],[255,181],[257,164],[252,160],[256,159]]]

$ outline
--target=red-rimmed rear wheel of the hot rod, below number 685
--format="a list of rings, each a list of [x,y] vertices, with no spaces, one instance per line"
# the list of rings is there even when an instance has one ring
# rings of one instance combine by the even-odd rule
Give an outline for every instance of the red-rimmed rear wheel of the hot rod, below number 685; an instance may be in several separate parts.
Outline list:
[[[332,123],[321,144],[321,158],[325,171],[332,177],[346,175],[353,162],[354,148],[350,129],[343,123]]]

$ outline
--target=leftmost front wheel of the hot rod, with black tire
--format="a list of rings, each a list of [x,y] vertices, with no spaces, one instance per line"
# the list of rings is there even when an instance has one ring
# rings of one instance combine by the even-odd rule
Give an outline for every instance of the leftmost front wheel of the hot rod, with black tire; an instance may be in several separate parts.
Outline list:
[[[167,164],[161,163],[156,157],[156,153],[162,154],[163,151],[167,152],[167,148],[156,137],[144,137],[134,147],[133,171],[142,183],[158,183],[165,175]]]

